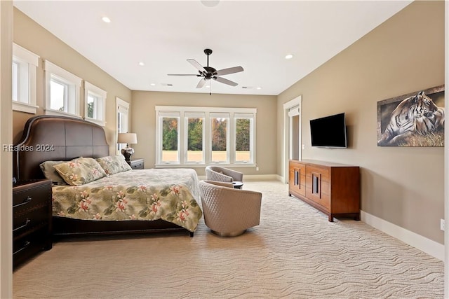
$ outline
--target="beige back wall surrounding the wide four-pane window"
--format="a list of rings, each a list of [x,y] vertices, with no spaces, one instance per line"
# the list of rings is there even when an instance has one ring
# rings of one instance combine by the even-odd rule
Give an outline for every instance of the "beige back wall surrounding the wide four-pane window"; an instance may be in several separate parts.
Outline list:
[[[234,169],[244,174],[276,173],[276,96],[133,91],[131,125],[138,134],[133,157],[145,158],[145,168],[154,167],[156,157],[156,105],[256,108],[256,162],[259,171],[256,172],[255,167]],[[204,169],[196,169],[196,172],[203,175]]]

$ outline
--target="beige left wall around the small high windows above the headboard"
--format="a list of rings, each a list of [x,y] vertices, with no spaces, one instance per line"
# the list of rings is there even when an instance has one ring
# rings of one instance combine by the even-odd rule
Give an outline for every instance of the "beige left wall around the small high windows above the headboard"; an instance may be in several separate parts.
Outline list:
[[[116,97],[120,97],[126,102],[131,102],[131,91],[125,85],[116,81],[112,76],[87,60],[74,49],[67,46],[56,36],[38,25],[27,17],[24,13],[14,8],[13,41],[19,46],[32,51],[41,57],[37,69],[37,106],[39,109],[36,115],[43,114],[44,81],[42,60],[49,60],[62,67],[83,80],[98,86],[107,92],[106,99],[106,139],[109,144],[109,151],[115,153],[116,145]],[[81,99],[84,96],[81,94]],[[84,114],[84,102],[81,102],[81,116]],[[22,136],[23,126],[28,118],[34,114],[13,112],[13,141],[19,141]]]

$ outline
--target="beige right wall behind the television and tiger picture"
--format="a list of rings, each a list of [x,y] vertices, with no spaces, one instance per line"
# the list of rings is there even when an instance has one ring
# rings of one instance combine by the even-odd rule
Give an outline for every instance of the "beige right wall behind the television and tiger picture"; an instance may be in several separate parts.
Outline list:
[[[361,167],[361,209],[443,244],[443,148],[377,146],[377,101],[444,84],[444,2],[416,1],[278,97],[302,95],[302,158]],[[349,148],[311,148],[309,120],[345,112]],[[281,174],[281,163],[276,169]]]

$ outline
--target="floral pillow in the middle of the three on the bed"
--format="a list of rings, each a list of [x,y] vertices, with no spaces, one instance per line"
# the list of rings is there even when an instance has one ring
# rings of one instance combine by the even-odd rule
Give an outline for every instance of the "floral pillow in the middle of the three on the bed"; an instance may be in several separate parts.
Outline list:
[[[83,185],[106,176],[100,164],[93,158],[76,158],[54,165],[56,171],[69,185]]]

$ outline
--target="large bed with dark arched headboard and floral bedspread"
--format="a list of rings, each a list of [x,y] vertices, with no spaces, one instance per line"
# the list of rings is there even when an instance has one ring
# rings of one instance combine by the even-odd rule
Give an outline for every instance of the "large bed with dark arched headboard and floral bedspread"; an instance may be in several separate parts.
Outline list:
[[[114,155],[109,155],[102,127],[79,118],[35,116],[27,120],[15,144],[14,176],[19,181],[45,179],[43,162],[70,167],[92,160],[101,164],[109,157]],[[106,169],[102,167],[100,172]],[[106,175],[98,177],[96,172],[95,178],[75,186],[53,186],[55,237],[180,230],[193,237],[202,216],[194,169],[132,169],[113,174],[106,169]],[[60,174],[64,177],[65,172]]]

